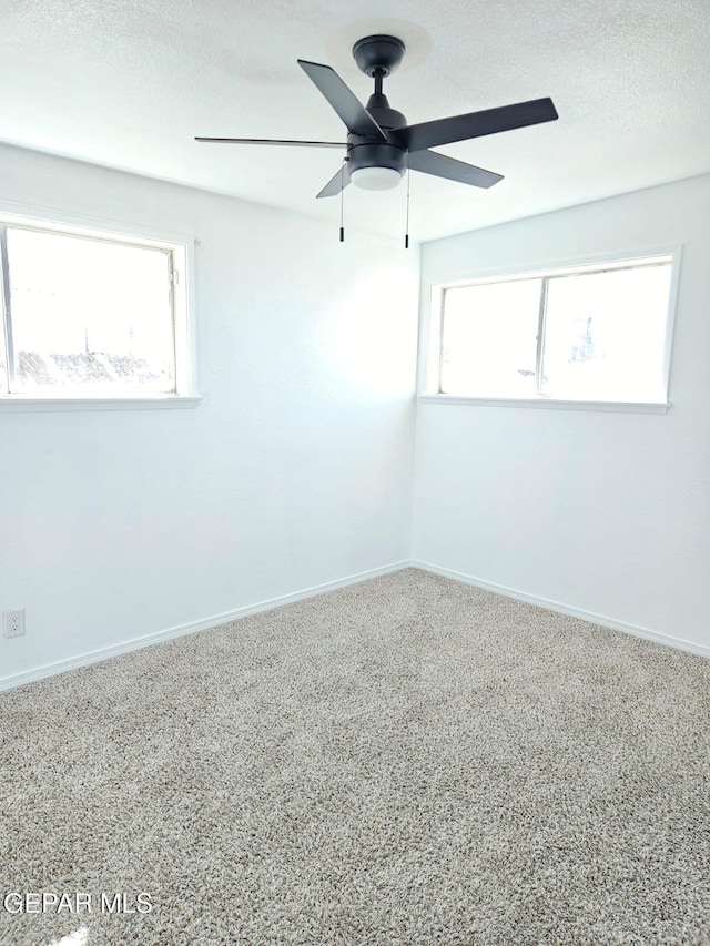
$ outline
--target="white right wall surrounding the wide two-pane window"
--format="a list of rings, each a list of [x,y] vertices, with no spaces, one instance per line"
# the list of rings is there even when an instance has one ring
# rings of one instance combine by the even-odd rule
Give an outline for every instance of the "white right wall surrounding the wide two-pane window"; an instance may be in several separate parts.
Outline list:
[[[437,282],[683,244],[666,415],[420,404],[414,558],[710,647],[710,176],[426,244]]]

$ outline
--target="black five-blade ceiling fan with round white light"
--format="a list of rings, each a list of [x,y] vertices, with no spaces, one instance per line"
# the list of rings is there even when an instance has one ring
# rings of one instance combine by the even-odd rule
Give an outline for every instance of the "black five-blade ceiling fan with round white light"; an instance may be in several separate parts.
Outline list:
[[[347,140],[344,142],[248,138],[196,138],[195,141],[345,149],[342,166],[317,194],[318,197],[335,196],[349,183],[371,191],[388,190],[399,183],[407,169],[474,187],[490,187],[503,180],[501,174],[456,161],[429,149],[558,118],[551,99],[534,99],[515,105],[408,125],[402,112],[389,106],[382,88],[383,80],[396,71],[404,54],[405,44],[396,37],[376,34],[364,37],[355,43],[353,57],[357,67],[375,80],[375,91],[367,105],[359,102],[329,65],[297,60],[343,121],[347,130]]]

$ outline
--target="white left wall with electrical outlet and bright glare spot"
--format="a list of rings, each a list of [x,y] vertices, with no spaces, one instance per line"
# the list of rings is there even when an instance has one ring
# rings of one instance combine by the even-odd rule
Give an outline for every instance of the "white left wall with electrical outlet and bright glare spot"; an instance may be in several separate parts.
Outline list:
[[[1,201],[193,233],[204,400],[0,414],[0,684],[408,559],[416,251],[8,146]]]

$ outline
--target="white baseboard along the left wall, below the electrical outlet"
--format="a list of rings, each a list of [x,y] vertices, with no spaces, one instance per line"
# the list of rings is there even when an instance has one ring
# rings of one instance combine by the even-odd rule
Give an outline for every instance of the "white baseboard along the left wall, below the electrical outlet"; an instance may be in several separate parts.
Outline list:
[[[335,591],[338,588],[346,588],[349,584],[368,581],[371,578],[378,578],[381,574],[402,571],[403,568],[409,568],[410,564],[412,563],[409,561],[399,561],[384,566],[383,568],[361,571],[357,574],[351,574],[347,578],[341,578],[337,581],[328,581],[325,584],[315,584],[313,588],[304,588],[301,591],[295,591],[293,594],[283,594],[280,598],[271,598],[268,601],[247,604],[244,608],[236,608],[234,611],[226,611],[223,614],[213,614],[211,618],[204,618],[201,621],[180,624],[176,628],[169,628],[166,631],[155,631],[155,633],[145,634],[142,638],[133,638],[132,640],[113,644],[112,647],[92,650],[88,653],[70,657],[67,660],[58,660],[55,663],[45,663],[42,667],[37,667],[22,673],[14,673],[10,677],[0,678],[0,693],[4,690],[12,690],[16,686],[22,686],[24,683],[33,683],[37,680],[44,680],[47,677],[54,677],[58,673],[64,673],[67,670],[74,670],[78,667],[85,667],[89,663],[98,663],[99,661],[108,660],[111,657],[130,653],[133,650],[140,650],[141,648],[150,647],[151,644],[156,644],[161,641],[168,641],[172,638],[182,638],[185,634],[194,634],[196,631],[205,631],[209,628],[216,628],[220,624],[226,624],[230,621],[246,618],[248,614],[258,614],[261,611],[271,611],[274,608],[281,608],[282,604],[291,604],[292,601],[300,601],[303,598],[313,598],[316,594],[325,594],[327,591]]]

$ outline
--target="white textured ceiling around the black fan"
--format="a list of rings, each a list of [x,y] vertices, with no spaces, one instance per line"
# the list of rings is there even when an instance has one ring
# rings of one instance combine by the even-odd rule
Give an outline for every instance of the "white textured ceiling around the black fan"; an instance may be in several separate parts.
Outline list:
[[[432,240],[710,171],[708,0],[0,0],[0,140],[288,207],[336,151],[207,145],[196,134],[345,140],[296,59],[363,101],[351,48],[407,45],[385,82],[409,122],[550,95],[559,121],[439,149],[505,175],[484,191],[412,174]],[[347,226],[402,240],[406,187],[345,192]]]

